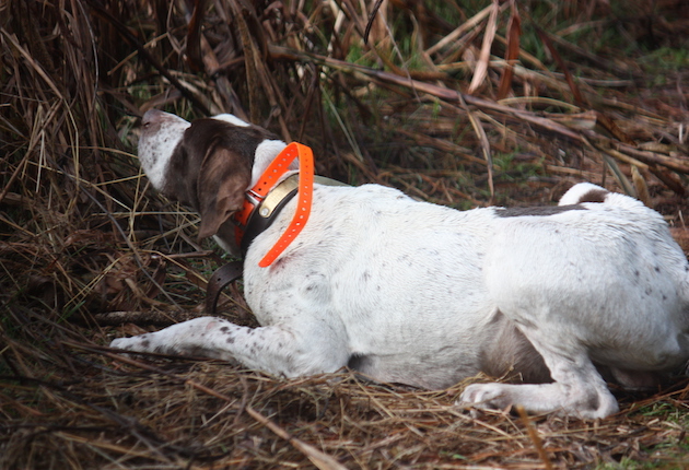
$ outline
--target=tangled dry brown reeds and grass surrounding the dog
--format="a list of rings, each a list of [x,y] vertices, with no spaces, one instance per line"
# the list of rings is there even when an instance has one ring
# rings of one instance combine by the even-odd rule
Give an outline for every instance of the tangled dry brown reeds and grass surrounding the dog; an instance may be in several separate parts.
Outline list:
[[[619,392],[603,421],[472,418],[462,384],[104,348],[201,315],[223,262],[139,173],[151,107],[234,113],[310,144],[320,174],[460,209],[592,180],[687,249],[686,2],[462,3],[0,0],[0,468],[689,465],[682,378]],[[224,315],[250,325],[233,298]]]

